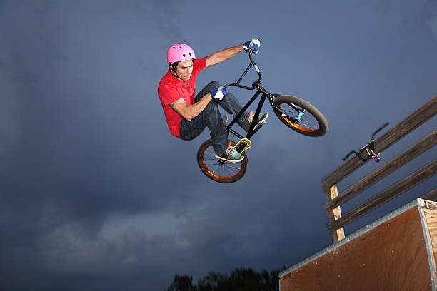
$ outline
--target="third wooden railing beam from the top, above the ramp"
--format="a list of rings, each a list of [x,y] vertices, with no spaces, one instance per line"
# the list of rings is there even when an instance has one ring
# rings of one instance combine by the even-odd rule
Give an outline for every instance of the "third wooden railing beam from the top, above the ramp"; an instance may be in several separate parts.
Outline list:
[[[401,193],[412,188],[418,183],[421,183],[423,180],[431,177],[436,173],[436,171],[437,160],[434,160],[432,163],[426,165],[415,173],[408,175],[406,178],[403,178],[403,180],[399,181],[395,185],[392,185],[386,190],[383,190],[378,195],[349,211],[348,213],[346,213],[346,215],[343,215],[343,217],[329,223],[328,231],[332,233],[339,228],[343,228],[344,225],[351,223],[353,220],[360,218],[362,215],[370,212],[371,210],[382,205],[383,203],[386,203],[388,200],[395,198],[397,195],[400,195]]]

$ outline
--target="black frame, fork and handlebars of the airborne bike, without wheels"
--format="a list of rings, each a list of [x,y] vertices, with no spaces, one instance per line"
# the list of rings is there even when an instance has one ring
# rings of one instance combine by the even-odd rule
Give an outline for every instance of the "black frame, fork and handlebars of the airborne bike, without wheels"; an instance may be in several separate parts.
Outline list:
[[[253,51],[249,51],[249,59],[251,60],[251,63],[248,64],[246,70],[241,74],[240,78],[238,78],[238,81],[236,83],[227,83],[225,85],[226,88],[228,88],[229,86],[236,86],[238,88],[243,88],[246,90],[255,90],[256,89],[256,92],[253,94],[252,98],[246,103],[245,106],[243,106],[243,108],[241,108],[241,111],[238,112],[237,115],[233,117],[233,120],[231,121],[231,123],[229,123],[228,126],[225,125],[226,131],[228,131],[228,135],[231,132],[235,136],[238,136],[238,138],[241,138],[241,139],[244,138],[244,136],[241,136],[241,134],[234,131],[231,127],[233,126],[234,123],[236,123],[236,121],[238,121],[239,118],[241,118],[241,116],[243,116],[243,113],[246,112],[246,109],[249,106],[251,106],[253,101],[255,101],[256,98],[258,98],[258,96],[261,93],[262,93],[262,96],[261,96],[261,99],[258,103],[258,106],[256,107],[255,116],[251,122],[251,126],[249,127],[246,138],[250,139],[260,129],[259,127],[256,129],[254,129],[254,128],[255,128],[256,123],[258,122],[258,116],[259,116],[259,113],[261,113],[261,108],[263,107],[263,104],[264,104],[264,101],[266,101],[266,98],[268,98],[268,101],[270,102],[270,105],[273,108],[273,110],[278,111],[278,113],[283,114],[281,109],[279,109],[273,105],[273,99],[275,98],[275,95],[271,94],[265,88],[261,87],[261,78],[262,78],[261,71],[259,70],[258,66],[256,66],[256,63],[253,61],[252,53],[253,53]],[[246,76],[246,73],[251,68],[251,66],[253,66],[253,68],[255,68],[255,70],[256,70],[256,73],[258,73],[258,80],[254,81],[251,87],[241,85],[240,84],[241,81],[243,80],[244,76]]]

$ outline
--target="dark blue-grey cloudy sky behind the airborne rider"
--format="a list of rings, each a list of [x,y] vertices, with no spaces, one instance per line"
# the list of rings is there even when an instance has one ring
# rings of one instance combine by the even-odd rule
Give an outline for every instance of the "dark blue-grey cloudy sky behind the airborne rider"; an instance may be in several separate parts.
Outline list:
[[[209,133],[172,137],[156,89],[171,44],[207,56],[252,38],[261,39],[263,86],[311,101],[330,128],[299,136],[266,104],[271,117],[253,137],[248,173],[221,185],[196,165]],[[198,89],[236,81],[247,61],[240,53],[206,69]],[[436,0],[0,1],[0,289],[165,290],[176,273],[198,280],[210,270],[291,267],[332,242],[321,179],[378,126],[436,96],[436,80]],[[382,153],[383,162],[436,121]]]

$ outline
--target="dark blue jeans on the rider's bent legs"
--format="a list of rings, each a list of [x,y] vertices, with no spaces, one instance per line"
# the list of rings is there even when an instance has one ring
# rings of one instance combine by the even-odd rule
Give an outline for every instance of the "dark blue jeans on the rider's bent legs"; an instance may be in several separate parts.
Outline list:
[[[202,97],[208,94],[213,88],[222,86],[217,81],[212,81],[205,86],[194,98],[194,103],[199,102]],[[198,116],[193,118],[191,121],[182,119],[179,123],[179,137],[185,141],[190,141],[204,131],[206,127],[211,131],[211,138],[213,140],[212,146],[217,155],[221,155],[228,148],[228,133],[226,132],[225,125],[221,118],[220,111],[218,111],[218,105],[220,105],[227,113],[236,116],[238,112],[241,111],[241,104],[232,95],[228,95],[223,98],[219,103],[216,101],[211,101],[204,111],[202,111]],[[248,113],[244,113],[243,116],[237,123],[243,126],[244,122],[248,118]]]

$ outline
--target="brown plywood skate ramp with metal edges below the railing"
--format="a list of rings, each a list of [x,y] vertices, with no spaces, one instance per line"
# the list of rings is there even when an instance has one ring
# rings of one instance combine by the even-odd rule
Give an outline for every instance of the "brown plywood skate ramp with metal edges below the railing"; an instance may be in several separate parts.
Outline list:
[[[279,290],[437,290],[437,203],[418,198],[279,274]]]

